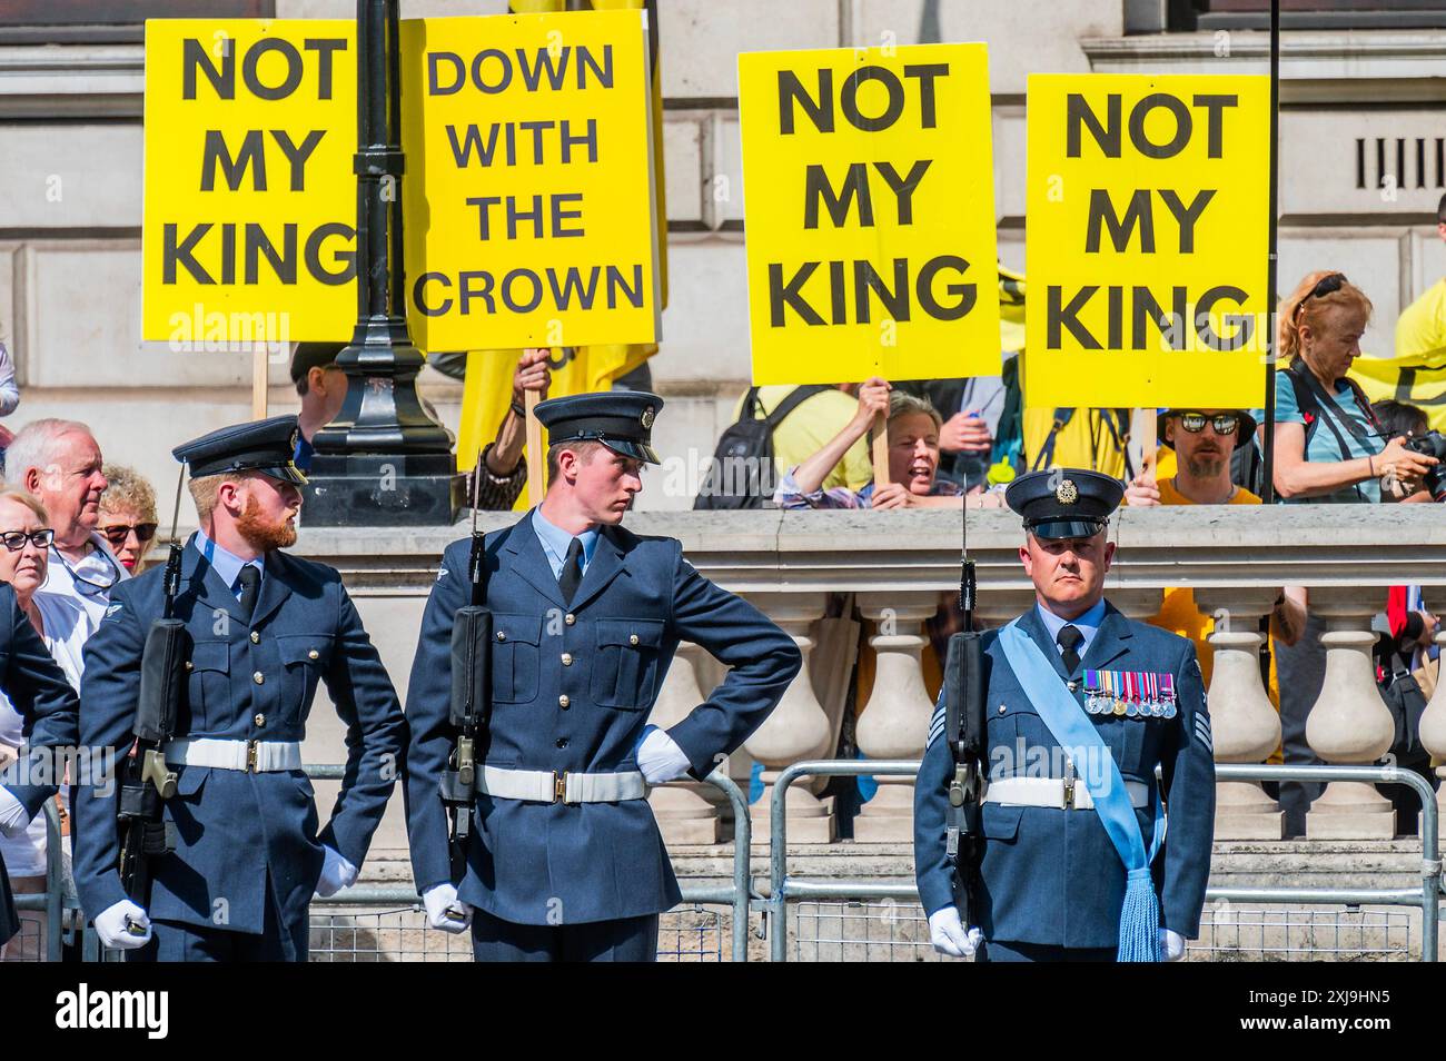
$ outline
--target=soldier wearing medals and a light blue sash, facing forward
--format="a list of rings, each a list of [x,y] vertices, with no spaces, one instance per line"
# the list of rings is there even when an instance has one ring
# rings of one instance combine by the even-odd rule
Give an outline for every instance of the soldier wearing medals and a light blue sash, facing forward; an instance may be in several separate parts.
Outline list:
[[[975,924],[960,922],[946,857],[954,763],[943,697],[915,789],[918,890],[944,954],[1173,960],[1199,934],[1215,827],[1210,718],[1194,646],[1103,597],[1115,552],[1105,530],[1121,497],[1113,478],[1074,468],[1030,473],[1005,494],[1024,517],[1035,606],[983,635]]]

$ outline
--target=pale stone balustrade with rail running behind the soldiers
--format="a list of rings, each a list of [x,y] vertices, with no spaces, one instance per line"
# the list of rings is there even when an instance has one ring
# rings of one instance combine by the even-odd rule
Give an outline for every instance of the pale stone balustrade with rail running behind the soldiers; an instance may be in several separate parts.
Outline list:
[[[1446,587],[1446,520],[1434,506],[1196,506],[1119,513],[1118,544],[1106,596],[1126,614],[1152,614],[1165,587],[1196,590],[1197,604],[1219,616],[1212,636],[1215,672],[1209,690],[1220,762],[1261,762],[1275,747],[1280,723],[1257,665],[1258,622],[1283,585],[1310,588],[1312,610],[1326,619],[1325,690],[1307,727],[1317,755],[1335,763],[1375,760],[1388,746],[1390,716],[1371,671],[1371,619],[1387,587],[1414,583]],[[486,513],[483,529],[506,526],[513,513]],[[774,716],[735,755],[732,772],[746,781],[753,762],[766,786],[792,762],[830,755],[857,642],[875,650],[875,681],[856,721],[856,742],[879,759],[923,752],[931,703],[920,653],[923,622],[943,594],[959,587],[960,520],[956,512],[739,512],[661,513],[628,517],[636,533],[683,541],[685,557],[720,585],[746,596],[800,645],[804,668]],[[398,690],[405,685],[422,604],[442,548],[466,525],[435,530],[302,530],[296,552],[340,568],[377,642]],[[999,510],[969,515],[969,552],[977,565],[983,624],[999,624],[1032,603],[1018,559],[1018,517]],[[1446,594],[1446,588],[1442,590]],[[833,603],[849,614],[826,617]],[[869,620],[870,636],[849,620]],[[850,643],[850,640],[853,643]],[[685,646],[668,674],[654,720],[685,714],[720,678],[707,653]],[[1442,687],[1446,690],[1446,685]],[[341,757],[341,731],[330,711],[314,714],[308,759]],[[1446,692],[1437,691],[1421,739],[1446,756]],[[818,788],[790,795],[790,838],[833,840],[831,814]],[[882,783],[856,820],[857,840],[908,836],[908,785]],[[710,794],[678,789],[654,795],[665,833],[680,843],[719,837],[719,808]],[[755,836],[766,837],[766,814],[755,814]],[[1222,785],[1223,838],[1280,838],[1280,808],[1258,785]],[[1332,785],[1312,811],[1307,836],[1390,836],[1390,805],[1371,786]],[[383,846],[405,846],[393,808]]]

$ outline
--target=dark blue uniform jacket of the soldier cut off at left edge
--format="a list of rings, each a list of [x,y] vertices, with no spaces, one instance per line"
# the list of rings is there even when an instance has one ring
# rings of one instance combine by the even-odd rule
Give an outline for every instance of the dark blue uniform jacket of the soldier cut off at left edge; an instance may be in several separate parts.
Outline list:
[[[65,672],[20,611],[14,588],[9,583],[0,583],[0,675],[6,695],[25,720],[26,747],[32,753],[29,765],[16,763],[12,775],[14,782],[6,788],[33,818],[58,788],[43,782],[52,778],[59,781],[55,778],[56,760],[46,756],[43,749],[71,749],[80,743],[80,703],[75,690],[65,681]],[[4,781],[0,776],[0,783]],[[4,872],[4,859],[0,859],[0,944],[17,929],[10,879]]]

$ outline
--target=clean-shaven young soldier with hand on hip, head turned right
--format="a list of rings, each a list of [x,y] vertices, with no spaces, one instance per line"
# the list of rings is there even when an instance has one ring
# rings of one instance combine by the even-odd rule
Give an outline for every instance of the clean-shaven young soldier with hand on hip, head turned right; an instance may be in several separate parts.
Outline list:
[[[706,776],[801,665],[792,639],[698,575],[677,541],[620,526],[658,463],[661,408],[633,392],[536,408],[547,496],[486,539],[490,743],[457,876],[438,783],[457,736],[450,639],[470,600],[467,541],[447,549],[427,603],[406,697],[412,866],[432,925],[470,922],[479,961],[655,958],[658,914],[680,892],[646,786]],[[680,640],[732,671],[683,721],[645,726]]]

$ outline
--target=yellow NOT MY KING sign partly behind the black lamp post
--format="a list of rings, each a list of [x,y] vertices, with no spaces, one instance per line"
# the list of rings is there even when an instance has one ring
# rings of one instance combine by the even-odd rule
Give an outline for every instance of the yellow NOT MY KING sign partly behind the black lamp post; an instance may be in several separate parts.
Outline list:
[[[143,338],[350,338],[356,68],[354,22],[146,22]]]

